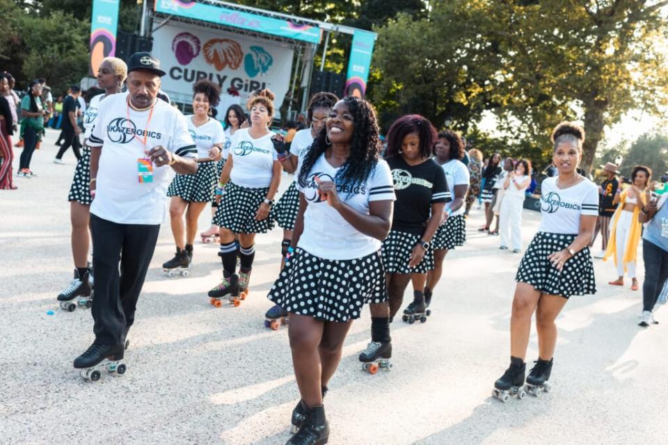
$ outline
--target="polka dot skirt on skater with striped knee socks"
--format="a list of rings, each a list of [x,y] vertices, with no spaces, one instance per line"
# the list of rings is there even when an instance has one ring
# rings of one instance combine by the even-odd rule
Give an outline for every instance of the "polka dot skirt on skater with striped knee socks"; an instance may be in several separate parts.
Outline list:
[[[218,204],[214,224],[230,229],[235,234],[264,234],[273,229],[271,212],[262,221],[255,220],[255,212],[267,198],[269,188],[239,187],[229,181]]]

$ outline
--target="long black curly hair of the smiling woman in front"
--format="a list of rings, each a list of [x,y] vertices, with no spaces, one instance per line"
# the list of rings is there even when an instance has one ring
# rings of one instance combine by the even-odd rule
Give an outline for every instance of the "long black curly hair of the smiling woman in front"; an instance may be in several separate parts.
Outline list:
[[[350,141],[350,156],[342,168],[336,174],[337,184],[350,184],[358,186],[366,181],[371,172],[376,168],[381,152],[381,141],[379,137],[376,113],[364,99],[347,96],[341,99],[348,106],[353,115],[353,137]],[[327,131],[322,131],[306,151],[301,170],[299,171],[299,184],[307,185],[308,175],[320,156],[330,144],[327,143]]]

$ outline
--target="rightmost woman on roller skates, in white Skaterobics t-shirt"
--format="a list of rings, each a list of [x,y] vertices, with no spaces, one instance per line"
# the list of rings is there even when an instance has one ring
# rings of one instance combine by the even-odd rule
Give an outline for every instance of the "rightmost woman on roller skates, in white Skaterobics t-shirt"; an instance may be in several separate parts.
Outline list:
[[[536,312],[539,357],[527,376],[527,391],[548,390],[557,345],[555,318],[573,295],[596,293],[594,264],[587,245],[598,217],[598,187],[578,174],[584,129],[562,122],[552,133],[552,163],[558,176],[541,184],[541,224],[520,262],[510,321],[510,366],[494,383],[502,401],[522,398],[525,356]]]

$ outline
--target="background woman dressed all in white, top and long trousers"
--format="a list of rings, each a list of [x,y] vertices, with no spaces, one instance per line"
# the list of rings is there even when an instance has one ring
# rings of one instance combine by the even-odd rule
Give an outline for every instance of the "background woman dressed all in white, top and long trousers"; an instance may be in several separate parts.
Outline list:
[[[531,184],[531,163],[526,159],[517,161],[515,170],[503,181],[503,200],[499,211],[501,250],[508,249],[508,233],[513,243],[513,253],[522,250],[522,209],[527,188]]]

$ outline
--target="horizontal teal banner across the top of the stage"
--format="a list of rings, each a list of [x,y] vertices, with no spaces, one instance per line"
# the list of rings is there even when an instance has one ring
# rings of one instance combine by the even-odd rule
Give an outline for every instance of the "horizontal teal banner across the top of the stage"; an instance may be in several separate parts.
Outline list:
[[[248,29],[258,33],[280,35],[313,44],[318,44],[321,36],[318,26],[294,24],[289,20],[244,13],[224,6],[197,3],[195,0],[156,0],[155,12],[180,15],[189,19]]]

